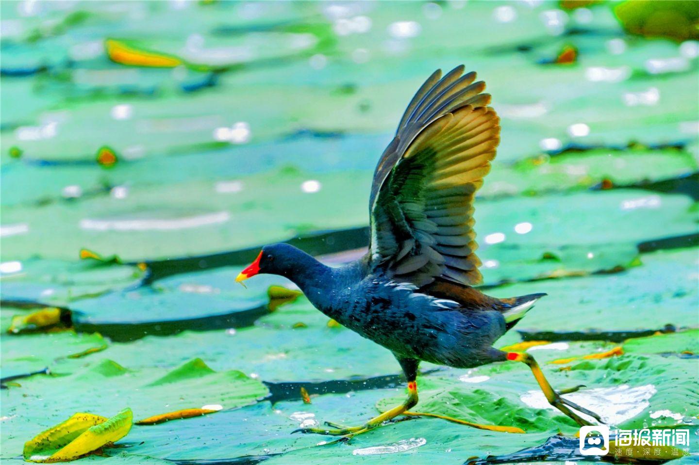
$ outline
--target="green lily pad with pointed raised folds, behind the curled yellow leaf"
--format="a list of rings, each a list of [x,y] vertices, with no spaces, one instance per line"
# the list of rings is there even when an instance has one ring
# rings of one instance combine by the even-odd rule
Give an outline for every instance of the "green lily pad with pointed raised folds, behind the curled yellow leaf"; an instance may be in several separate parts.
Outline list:
[[[3,457],[16,455],[28,428],[49,427],[75,410],[99,412],[115,404],[128,405],[140,420],[210,404],[236,408],[254,404],[268,392],[261,382],[241,371],[214,371],[201,359],[176,369],[143,370],[96,360],[68,376],[24,379],[21,388],[11,390],[3,399],[7,420],[2,453]]]

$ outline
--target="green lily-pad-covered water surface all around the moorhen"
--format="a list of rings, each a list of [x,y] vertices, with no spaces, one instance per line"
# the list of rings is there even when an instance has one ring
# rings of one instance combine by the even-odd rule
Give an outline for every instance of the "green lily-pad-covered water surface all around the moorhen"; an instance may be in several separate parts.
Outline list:
[[[417,411],[527,434],[419,418],[348,444],[291,436],[396,404],[398,365],[303,297],[270,312],[284,279],[234,282],[269,242],[366,244],[373,168],[405,105],[462,63],[503,127],[475,212],[487,293],[549,294],[498,346],[551,342],[532,354],[554,387],[585,384],[571,399],[617,427],[696,431],[698,43],[630,36],[604,2],[559,8],[1,2],[3,462],[75,412],[126,407],[223,410],[135,426],[81,462],[461,464],[575,434],[524,366],[424,364]],[[106,40],[182,64],[116,63]],[[566,45],[577,61],[551,64]],[[59,328],[7,332],[42,307],[64,309]]]

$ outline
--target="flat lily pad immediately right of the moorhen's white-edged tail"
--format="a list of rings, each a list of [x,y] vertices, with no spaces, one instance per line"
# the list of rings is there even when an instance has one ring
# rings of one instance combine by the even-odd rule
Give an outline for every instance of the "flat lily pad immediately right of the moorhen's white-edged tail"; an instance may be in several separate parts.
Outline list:
[[[487,293],[496,297],[548,293],[515,327],[533,334],[696,327],[691,314],[699,302],[697,260],[696,249],[644,253],[642,266],[623,273],[520,283]]]

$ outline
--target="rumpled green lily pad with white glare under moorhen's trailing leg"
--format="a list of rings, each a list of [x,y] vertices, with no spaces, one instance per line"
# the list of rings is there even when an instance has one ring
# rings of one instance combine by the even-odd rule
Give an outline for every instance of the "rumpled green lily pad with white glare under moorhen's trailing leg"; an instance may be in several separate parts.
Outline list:
[[[608,424],[621,429],[696,424],[699,404],[689,387],[697,376],[696,360],[629,354],[574,362],[568,371],[558,367],[542,367],[554,388],[586,385],[565,397],[600,414]],[[560,429],[574,434],[579,429],[549,406],[524,364],[491,364],[459,378],[423,376],[418,379],[418,390],[415,412],[520,427],[527,432]],[[382,399],[377,406],[384,411],[402,399]]]

